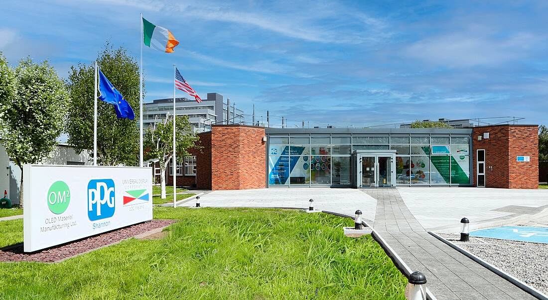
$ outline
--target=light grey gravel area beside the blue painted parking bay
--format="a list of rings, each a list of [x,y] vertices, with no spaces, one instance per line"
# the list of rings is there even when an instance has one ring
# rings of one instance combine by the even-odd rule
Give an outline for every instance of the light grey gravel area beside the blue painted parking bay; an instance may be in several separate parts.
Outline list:
[[[439,235],[449,241],[458,239],[457,235]],[[548,295],[548,244],[486,237],[473,239],[486,244],[474,244],[472,241],[454,244]]]

